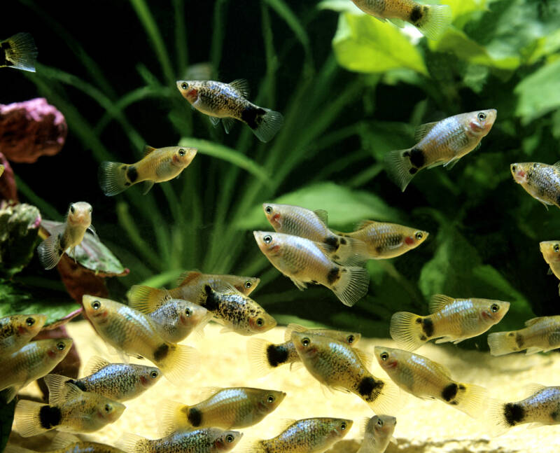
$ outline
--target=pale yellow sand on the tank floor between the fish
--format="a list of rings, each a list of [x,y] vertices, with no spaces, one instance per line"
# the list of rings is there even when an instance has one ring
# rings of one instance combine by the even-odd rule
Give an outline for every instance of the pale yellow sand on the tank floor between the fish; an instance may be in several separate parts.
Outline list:
[[[358,449],[362,420],[373,414],[358,396],[325,391],[304,368],[290,371],[288,366],[284,366],[265,377],[255,378],[251,376],[246,354],[248,337],[235,333],[222,334],[220,330],[220,326],[210,324],[205,328],[202,339],[186,341],[186,344],[192,344],[202,354],[202,365],[196,376],[187,379],[181,387],[174,386],[165,378],[160,379],[139,398],[127,401],[127,409],[116,423],[93,433],[90,438],[111,445],[126,432],[158,438],[156,408],[166,398],[194,404],[202,399],[200,396],[204,387],[253,386],[286,391],[287,396],[260,424],[242,430],[244,438],[235,449],[236,452],[243,452],[251,439],[274,437],[285,419],[306,417],[353,419],[351,431],[331,451],[353,453]],[[113,362],[120,361],[118,356],[109,355],[104,342],[87,321],[70,323],[68,331],[78,346],[83,363],[92,355],[102,355]],[[274,328],[261,337],[282,342],[283,331],[284,328]],[[362,338],[358,347],[373,354],[374,346],[378,344],[395,346],[391,340]],[[487,353],[434,344],[427,344],[417,352],[446,365],[454,379],[485,386],[493,398],[500,400],[524,398],[526,387],[531,383],[560,384],[560,354],[491,357]],[[377,361],[373,359],[372,362],[372,373],[388,379]],[[38,388],[32,384],[22,393],[36,395]],[[560,452],[560,426],[531,429],[517,427],[504,435],[491,437],[488,433],[491,426],[484,417],[475,420],[439,401],[420,400],[407,393],[403,394],[403,399],[406,405],[397,414],[394,434],[398,445],[389,445],[388,453]]]

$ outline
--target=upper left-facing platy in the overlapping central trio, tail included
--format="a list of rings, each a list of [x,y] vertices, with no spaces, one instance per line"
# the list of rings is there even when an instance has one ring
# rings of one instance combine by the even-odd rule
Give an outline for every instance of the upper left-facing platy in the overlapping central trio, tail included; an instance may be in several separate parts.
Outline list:
[[[365,244],[349,235],[337,235],[327,228],[327,211],[311,211],[291,204],[262,204],[270,225],[286,235],[323,244],[325,253],[336,263],[361,264],[367,258]]]

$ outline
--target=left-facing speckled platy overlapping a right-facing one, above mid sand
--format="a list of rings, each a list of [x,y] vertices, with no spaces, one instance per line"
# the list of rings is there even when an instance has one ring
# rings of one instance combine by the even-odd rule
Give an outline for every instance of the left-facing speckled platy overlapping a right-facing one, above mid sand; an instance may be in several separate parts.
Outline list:
[[[318,382],[358,395],[374,412],[394,410],[398,389],[367,371],[356,349],[307,332],[293,332],[292,342],[305,368]]]

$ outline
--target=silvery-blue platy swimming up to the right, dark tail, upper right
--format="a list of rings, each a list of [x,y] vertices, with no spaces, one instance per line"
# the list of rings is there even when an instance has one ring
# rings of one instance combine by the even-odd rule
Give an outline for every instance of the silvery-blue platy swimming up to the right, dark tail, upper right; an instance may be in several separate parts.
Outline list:
[[[437,165],[450,169],[479,146],[496,121],[496,114],[496,109],[474,111],[421,125],[414,136],[416,145],[385,156],[388,176],[404,192],[421,169]]]

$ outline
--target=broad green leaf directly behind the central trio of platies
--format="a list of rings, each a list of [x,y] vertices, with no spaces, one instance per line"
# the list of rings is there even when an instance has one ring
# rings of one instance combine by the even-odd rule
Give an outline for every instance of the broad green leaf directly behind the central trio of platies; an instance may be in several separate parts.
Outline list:
[[[400,218],[398,211],[388,207],[377,195],[350,190],[331,182],[317,183],[266,201],[294,204],[307,209],[325,209],[328,211],[329,225],[335,227],[347,227],[364,219],[398,221]],[[270,227],[260,205],[254,207],[237,226],[246,230]]]

